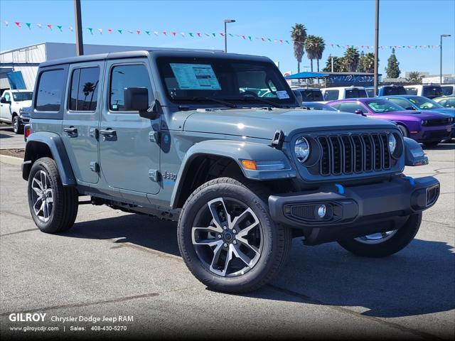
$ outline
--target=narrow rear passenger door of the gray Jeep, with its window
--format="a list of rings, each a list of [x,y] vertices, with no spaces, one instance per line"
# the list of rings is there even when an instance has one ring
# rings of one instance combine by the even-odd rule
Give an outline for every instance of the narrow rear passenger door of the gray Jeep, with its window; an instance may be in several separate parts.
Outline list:
[[[63,117],[63,143],[77,182],[99,180],[98,128],[105,62],[71,65],[68,100]]]

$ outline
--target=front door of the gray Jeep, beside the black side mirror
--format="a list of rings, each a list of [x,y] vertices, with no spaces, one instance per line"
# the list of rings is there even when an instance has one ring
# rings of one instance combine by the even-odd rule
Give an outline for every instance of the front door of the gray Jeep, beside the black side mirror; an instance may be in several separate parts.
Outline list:
[[[160,148],[157,139],[160,119],[144,119],[124,107],[124,89],[146,87],[153,101],[151,73],[146,58],[108,60],[106,104],[100,124],[100,165],[107,185],[124,195],[144,197],[159,193]]]

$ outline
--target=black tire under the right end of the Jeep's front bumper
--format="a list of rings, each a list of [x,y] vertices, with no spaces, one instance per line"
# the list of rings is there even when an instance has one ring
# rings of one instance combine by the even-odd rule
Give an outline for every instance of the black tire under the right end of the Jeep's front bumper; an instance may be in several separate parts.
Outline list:
[[[414,239],[419,231],[422,222],[422,213],[410,215],[407,222],[397,229],[397,232],[390,239],[378,244],[365,244],[358,239],[347,239],[338,241],[344,249],[357,256],[380,258],[387,257],[404,249]]]

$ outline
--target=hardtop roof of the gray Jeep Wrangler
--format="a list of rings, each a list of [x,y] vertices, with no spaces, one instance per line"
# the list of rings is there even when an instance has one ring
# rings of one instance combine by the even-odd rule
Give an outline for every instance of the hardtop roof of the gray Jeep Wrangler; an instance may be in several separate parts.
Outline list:
[[[97,55],[80,55],[77,57],[48,60],[41,63],[40,67],[53,65],[73,64],[90,62],[92,60],[122,59],[122,58],[141,58],[149,55],[169,56],[169,57],[194,57],[194,58],[232,58],[240,60],[257,60],[271,62],[267,57],[257,55],[240,55],[237,53],[223,53],[221,50],[189,50],[189,49],[150,49],[150,50],[132,50],[123,52],[100,53]]]

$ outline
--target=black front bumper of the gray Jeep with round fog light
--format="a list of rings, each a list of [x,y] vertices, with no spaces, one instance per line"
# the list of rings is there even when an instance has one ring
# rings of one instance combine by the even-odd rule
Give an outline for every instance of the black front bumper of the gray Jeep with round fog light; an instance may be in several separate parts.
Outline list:
[[[271,195],[269,210],[275,222],[306,230],[307,244],[320,244],[396,229],[412,213],[432,207],[438,197],[436,178],[401,177],[370,185]],[[323,217],[319,216],[321,205],[326,208]]]

